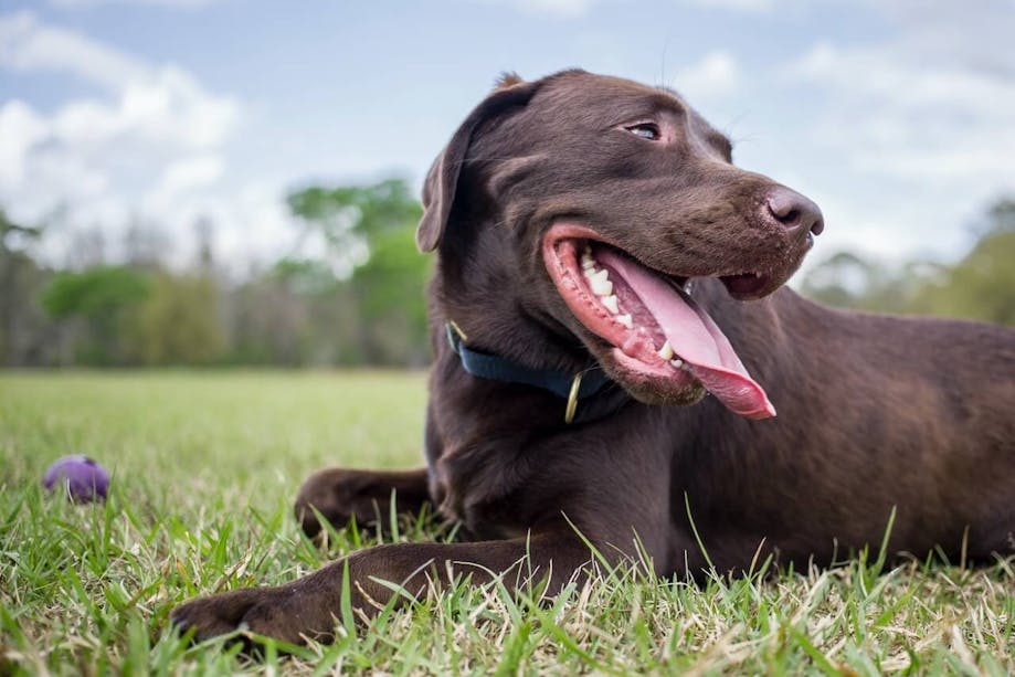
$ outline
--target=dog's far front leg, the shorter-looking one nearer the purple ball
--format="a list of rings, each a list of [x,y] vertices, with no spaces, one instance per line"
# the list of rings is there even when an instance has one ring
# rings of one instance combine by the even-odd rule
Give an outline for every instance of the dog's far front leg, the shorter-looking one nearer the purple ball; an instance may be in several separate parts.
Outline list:
[[[296,519],[307,536],[321,525],[316,509],[331,525],[343,527],[356,518],[360,526],[388,523],[391,500],[395,511],[419,514],[430,501],[426,468],[414,470],[356,470],[328,468],[310,475],[296,497]],[[314,509],[311,509],[314,508]]]

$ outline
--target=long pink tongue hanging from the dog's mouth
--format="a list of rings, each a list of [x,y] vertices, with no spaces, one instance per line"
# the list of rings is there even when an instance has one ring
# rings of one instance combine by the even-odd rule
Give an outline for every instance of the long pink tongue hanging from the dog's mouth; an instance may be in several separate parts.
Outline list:
[[[730,411],[749,419],[768,419],[775,408],[748,374],[726,335],[687,294],[641,265],[600,250],[595,257],[615,269],[652,313],[674,351],[690,372]]]

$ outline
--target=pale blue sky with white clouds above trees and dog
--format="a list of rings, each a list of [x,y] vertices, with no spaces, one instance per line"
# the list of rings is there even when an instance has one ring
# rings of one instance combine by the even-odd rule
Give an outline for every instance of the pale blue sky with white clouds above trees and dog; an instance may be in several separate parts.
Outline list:
[[[203,219],[266,262],[288,191],[419,188],[499,73],[578,66],[677,89],[815,200],[812,264],[954,260],[1015,194],[1012,35],[1015,0],[0,0],[0,207],[54,256],[140,221],[182,260]]]

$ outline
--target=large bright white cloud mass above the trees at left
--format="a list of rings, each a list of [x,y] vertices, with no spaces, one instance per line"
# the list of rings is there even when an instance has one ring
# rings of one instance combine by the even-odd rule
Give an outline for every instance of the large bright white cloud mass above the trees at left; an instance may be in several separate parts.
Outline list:
[[[0,103],[0,204],[15,219],[59,210],[65,226],[102,225],[110,241],[140,220],[187,243],[193,222],[209,216],[236,257],[277,251],[257,228],[268,239],[294,232],[277,187],[229,181],[228,147],[243,118],[235,98],[28,12],[0,15],[0,68],[97,86],[53,112]]]

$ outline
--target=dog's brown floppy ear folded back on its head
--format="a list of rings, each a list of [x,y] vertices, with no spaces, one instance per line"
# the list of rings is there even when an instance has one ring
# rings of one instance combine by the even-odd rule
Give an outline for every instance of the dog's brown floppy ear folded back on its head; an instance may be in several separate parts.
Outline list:
[[[423,184],[423,218],[416,229],[416,246],[421,252],[432,252],[441,242],[451,208],[455,202],[458,173],[476,129],[488,119],[507,110],[525,106],[536,93],[537,83],[524,82],[514,73],[505,73],[497,88],[465,118],[451,137],[447,147],[437,156]]]

